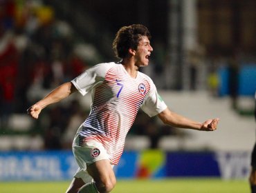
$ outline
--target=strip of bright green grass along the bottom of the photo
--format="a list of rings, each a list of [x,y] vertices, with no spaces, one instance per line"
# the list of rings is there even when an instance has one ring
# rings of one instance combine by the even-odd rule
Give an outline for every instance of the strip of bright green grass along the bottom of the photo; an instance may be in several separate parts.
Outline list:
[[[53,182],[0,182],[1,193],[58,193],[65,192],[69,181]],[[247,181],[220,179],[161,179],[118,180],[113,193],[246,193]]]

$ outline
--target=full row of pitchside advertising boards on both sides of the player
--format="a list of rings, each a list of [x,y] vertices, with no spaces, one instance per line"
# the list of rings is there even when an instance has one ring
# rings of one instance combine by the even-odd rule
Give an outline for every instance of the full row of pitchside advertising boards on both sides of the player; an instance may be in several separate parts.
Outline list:
[[[76,170],[71,151],[0,153],[0,181],[71,180]],[[118,179],[247,179],[250,152],[131,151],[124,152],[114,170]]]

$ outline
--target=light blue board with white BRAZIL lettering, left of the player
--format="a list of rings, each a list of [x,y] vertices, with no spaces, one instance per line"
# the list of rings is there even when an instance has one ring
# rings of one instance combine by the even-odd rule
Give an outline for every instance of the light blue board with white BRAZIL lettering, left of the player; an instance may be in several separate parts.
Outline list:
[[[0,181],[66,180],[76,170],[70,151],[0,153]]]

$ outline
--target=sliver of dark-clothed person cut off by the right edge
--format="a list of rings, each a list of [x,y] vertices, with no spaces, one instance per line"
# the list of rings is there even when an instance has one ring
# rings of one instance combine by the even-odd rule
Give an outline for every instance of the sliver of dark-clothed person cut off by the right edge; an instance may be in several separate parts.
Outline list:
[[[255,121],[256,121],[256,91],[255,91],[255,111],[254,111]],[[253,152],[251,155],[251,171],[250,171],[250,190],[252,193],[256,193],[256,142],[253,148]]]

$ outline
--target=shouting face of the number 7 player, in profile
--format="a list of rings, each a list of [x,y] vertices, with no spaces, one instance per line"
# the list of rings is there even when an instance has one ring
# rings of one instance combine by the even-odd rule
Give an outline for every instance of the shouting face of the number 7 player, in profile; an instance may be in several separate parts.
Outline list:
[[[136,65],[138,67],[149,65],[149,57],[152,51],[153,48],[150,45],[149,39],[146,36],[143,36],[140,39],[140,42],[138,43],[138,47],[135,54]]]

